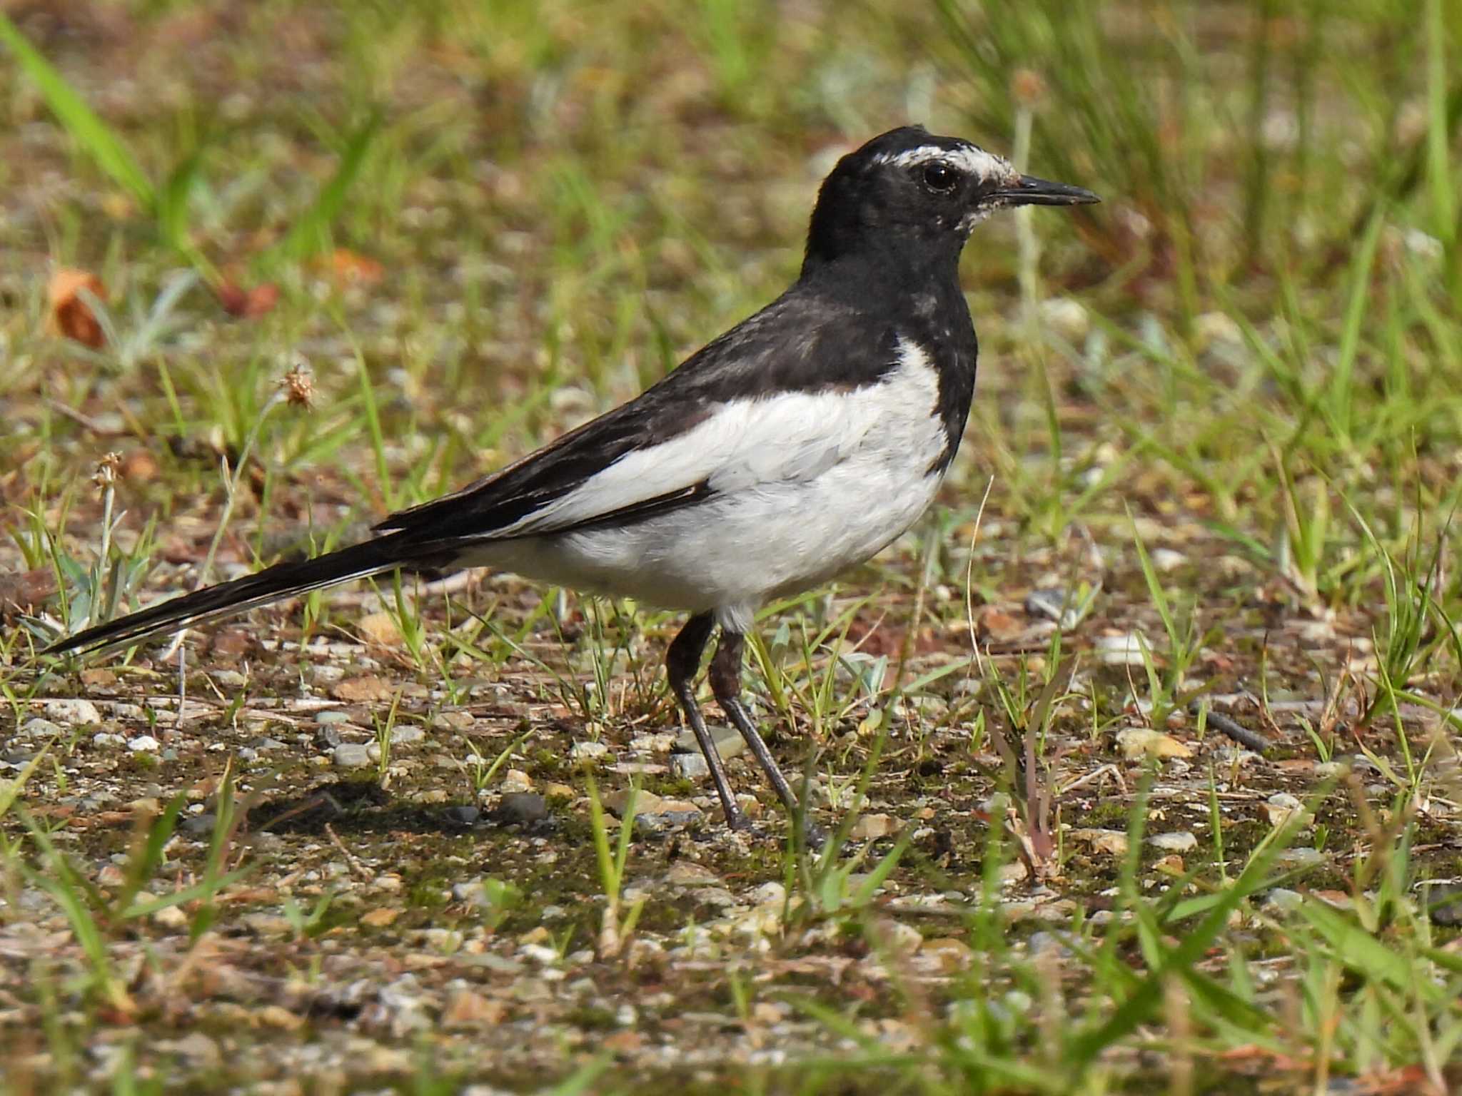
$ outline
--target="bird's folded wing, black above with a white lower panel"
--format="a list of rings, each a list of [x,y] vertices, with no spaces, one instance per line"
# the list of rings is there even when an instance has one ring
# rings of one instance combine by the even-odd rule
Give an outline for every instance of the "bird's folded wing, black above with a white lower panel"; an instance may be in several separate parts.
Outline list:
[[[846,414],[835,396],[877,383],[896,359],[892,332],[789,292],[637,399],[376,529],[434,542],[542,536],[810,478],[863,428],[832,428]]]

